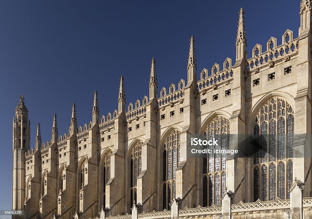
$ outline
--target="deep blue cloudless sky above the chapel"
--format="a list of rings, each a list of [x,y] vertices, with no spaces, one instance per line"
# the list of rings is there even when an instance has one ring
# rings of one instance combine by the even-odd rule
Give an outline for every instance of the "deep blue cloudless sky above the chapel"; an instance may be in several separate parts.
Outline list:
[[[186,80],[192,35],[198,74],[215,62],[222,66],[226,57],[235,63],[240,7],[249,57],[271,36],[280,45],[286,29],[298,37],[300,0],[0,1],[0,209],[12,208],[12,118],[21,93],[34,147],[38,122],[42,141],[51,139],[54,113],[59,134],[67,132],[73,102],[78,125],[88,123],[94,90],[100,115],[112,113],[120,75],[127,105],[142,100],[153,56],[158,91]]]

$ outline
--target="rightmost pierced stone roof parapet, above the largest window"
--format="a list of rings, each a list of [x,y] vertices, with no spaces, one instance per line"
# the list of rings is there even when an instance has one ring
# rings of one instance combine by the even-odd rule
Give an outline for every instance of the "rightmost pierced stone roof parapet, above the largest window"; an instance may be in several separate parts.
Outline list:
[[[271,37],[266,44],[266,51],[262,52],[262,46],[256,44],[252,50],[252,57],[246,61],[246,71],[257,70],[257,68],[269,65],[274,66],[276,61],[284,59],[289,61],[290,57],[298,53],[299,38],[293,39],[293,32],[286,30],[282,37],[282,44],[276,45],[276,38]]]

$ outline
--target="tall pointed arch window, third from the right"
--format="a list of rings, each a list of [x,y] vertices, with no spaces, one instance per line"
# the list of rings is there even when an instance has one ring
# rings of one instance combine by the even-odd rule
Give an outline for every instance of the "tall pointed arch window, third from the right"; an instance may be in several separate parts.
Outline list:
[[[172,198],[176,195],[176,170],[180,162],[180,132],[172,130],[163,146],[163,209],[171,209]]]

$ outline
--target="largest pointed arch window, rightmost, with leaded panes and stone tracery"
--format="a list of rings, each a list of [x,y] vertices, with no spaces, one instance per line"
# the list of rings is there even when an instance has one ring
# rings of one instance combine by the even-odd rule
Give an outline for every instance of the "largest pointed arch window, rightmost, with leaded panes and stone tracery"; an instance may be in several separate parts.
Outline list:
[[[292,183],[294,111],[280,98],[271,98],[259,109],[253,133],[262,150],[254,157],[254,201],[289,198]]]

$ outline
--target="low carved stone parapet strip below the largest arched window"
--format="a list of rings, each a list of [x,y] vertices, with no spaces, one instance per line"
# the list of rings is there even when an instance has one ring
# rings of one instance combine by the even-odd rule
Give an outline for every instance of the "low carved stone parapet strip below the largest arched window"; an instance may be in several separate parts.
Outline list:
[[[290,200],[285,199],[281,200],[277,197],[274,201],[262,202],[259,199],[256,202],[244,203],[239,202],[238,204],[231,205],[232,212],[241,211],[241,210],[265,210],[265,209],[282,209],[290,208]]]

